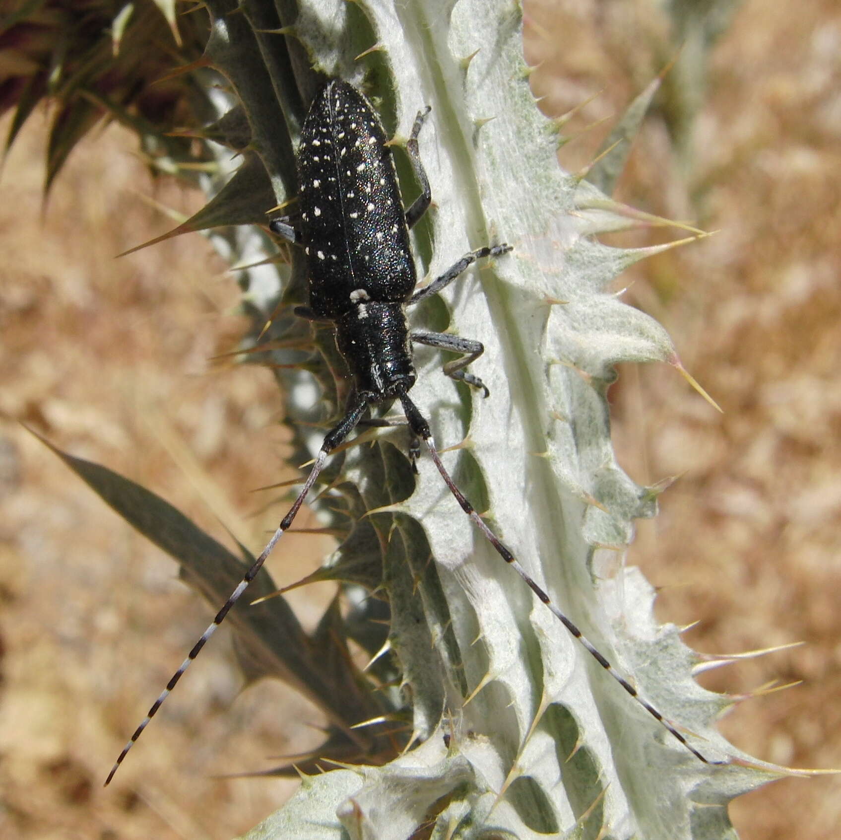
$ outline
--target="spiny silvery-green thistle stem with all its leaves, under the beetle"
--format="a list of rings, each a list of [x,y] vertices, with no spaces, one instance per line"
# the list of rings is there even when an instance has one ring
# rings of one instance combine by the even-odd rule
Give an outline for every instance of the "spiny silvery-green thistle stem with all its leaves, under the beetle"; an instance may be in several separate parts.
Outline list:
[[[413,234],[421,274],[434,277],[489,241],[514,246],[413,317],[413,327],[485,347],[474,369],[486,400],[443,376],[438,352],[415,354],[413,399],[438,446],[451,450],[447,468],[553,601],[717,762],[693,756],[592,662],[473,528],[429,461],[413,474],[405,429],[377,428],[334,455],[317,488],[317,510],[342,536],[310,579],[340,582],[346,598],[309,635],[282,596],[230,614],[246,677],[282,678],[329,721],[309,759],[278,768],[303,774],[299,793],[247,837],[734,837],[727,802],[783,771],[717,733],[733,700],[695,682],[701,657],[678,628],[653,619],[652,587],[622,563],[633,520],[655,513],[659,490],[617,465],[607,391],[619,362],[680,369],[663,328],[622,303],[614,283],[671,246],[597,238],[662,222],[608,197],[627,144],[607,141],[586,173],[558,167],[559,126],[532,97],[517,3],[204,7],[191,17],[206,15],[209,36],[182,74],[189,108],[179,113],[216,109],[188,133],[208,142],[202,154],[218,176],[205,183],[205,209],[173,232],[246,226],[214,233],[214,242],[234,259],[275,257],[241,271],[253,316],[242,347],[278,372],[293,462],[315,454],[348,385],[331,330],[294,316],[305,302],[304,263],[272,241],[267,213],[294,207],[306,106],[325,77],[341,77],[367,91],[394,136],[407,204],[418,184],[401,146],[431,105],[420,143],[436,210]],[[187,171],[193,144],[90,86],[87,78],[64,95],[134,125],[157,168]],[[628,109],[616,137],[633,135],[653,91]],[[210,603],[225,601],[251,564],[246,550],[234,556],[149,490],[59,454],[175,557]],[[277,588],[262,571],[243,601]],[[364,670],[350,642],[367,653]]]

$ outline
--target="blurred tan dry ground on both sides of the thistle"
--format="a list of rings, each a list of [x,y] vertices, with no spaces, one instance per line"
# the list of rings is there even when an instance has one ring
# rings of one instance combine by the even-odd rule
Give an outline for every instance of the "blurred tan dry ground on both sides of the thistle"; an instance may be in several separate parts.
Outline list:
[[[625,300],[664,323],[724,411],[672,369],[622,367],[621,464],[641,483],[680,476],[628,562],[660,588],[661,619],[698,622],[686,641],[699,651],[804,642],[701,682],[744,696],[722,731],[746,752],[841,767],[841,9],[684,7],[715,22],[704,43],[670,31],[651,3],[526,3],[542,108],[578,108],[563,166],[590,162],[610,121],[675,60],[616,196],[719,231],[622,278]],[[677,83],[687,68],[705,81],[690,97]],[[103,791],[211,613],[19,421],[254,547],[278,508],[251,491],[290,477],[282,405],[266,369],[214,360],[245,322],[203,237],[114,259],[172,226],[145,196],[184,214],[200,196],[151,183],[136,141],[111,125],[72,152],[44,203],[46,124],[34,115],[0,180],[0,837],[225,840],[296,783],[217,777],[314,745],[319,716],[278,683],[239,694],[220,632]],[[272,574],[295,580],[329,548],[291,534]],[[315,625],[331,594],[292,598]],[[838,837],[841,779],[786,779],[731,812],[742,840]]]

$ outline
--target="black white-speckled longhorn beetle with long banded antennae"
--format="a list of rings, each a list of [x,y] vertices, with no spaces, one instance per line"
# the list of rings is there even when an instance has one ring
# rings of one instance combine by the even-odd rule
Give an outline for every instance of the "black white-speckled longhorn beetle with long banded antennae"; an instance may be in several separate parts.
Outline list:
[[[418,154],[417,141],[430,110],[427,107],[418,113],[406,144],[422,192],[410,208],[404,210],[383,125],[362,93],[346,82],[328,82],[309,109],[298,149],[299,225],[290,224],[288,217],[283,217],[272,221],[270,228],[280,237],[304,247],[309,268],[309,306],[299,306],[295,312],[310,321],[331,322],[334,325],[336,344],[352,376],[352,392],[344,417],[325,436],[315,464],[292,508],[137,727],[105,784],[114,778],[126,753],[175,688],[190,662],[198,656],[214,630],[257,576],[275,544],[292,524],[327,456],[352,432],[368,407],[394,400],[400,401],[411,433],[415,439],[419,438],[426,444],[438,472],[464,513],[473,520],[502,559],[516,570],[537,598],[628,694],[697,758],[710,763],[653,705],[637,694],[631,683],[616,673],[611,663],[551,602],[510,549],[479,517],[442,464],[429,423],[409,397],[409,391],[415,384],[411,353],[413,343],[462,354],[460,359],[444,365],[444,373],[481,389],[484,396],[488,396],[482,380],[465,370],[483,353],[482,344],[440,332],[410,332],[406,307],[440,292],[477,259],[499,257],[511,250],[510,245],[505,244],[477,248],[466,253],[430,284],[415,290],[417,276],[409,229],[426,213],[431,202],[429,181]],[[416,441],[413,444],[415,448]]]

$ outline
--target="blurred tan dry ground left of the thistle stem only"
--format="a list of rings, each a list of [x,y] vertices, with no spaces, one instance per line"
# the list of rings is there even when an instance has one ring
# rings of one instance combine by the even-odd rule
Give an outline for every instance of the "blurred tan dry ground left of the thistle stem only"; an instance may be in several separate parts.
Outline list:
[[[213,838],[254,825],[294,788],[216,780],[314,746],[319,715],[279,684],[236,698],[216,643],[114,784],[103,774],[209,619],[176,566],[108,511],[22,420],[74,455],[167,497],[218,539],[274,527],[251,488],[288,477],[278,391],[264,369],[212,364],[244,320],[201,237],[115,260],[167,225],[119,130],[71,158],[40,221],[43,125],[6,162],[0,203],[0,836]],[[188,210],[196,195],[159,189]],[[293,537],[284,581],[323,556]],[[329,587],[297,596],[315,622]]]

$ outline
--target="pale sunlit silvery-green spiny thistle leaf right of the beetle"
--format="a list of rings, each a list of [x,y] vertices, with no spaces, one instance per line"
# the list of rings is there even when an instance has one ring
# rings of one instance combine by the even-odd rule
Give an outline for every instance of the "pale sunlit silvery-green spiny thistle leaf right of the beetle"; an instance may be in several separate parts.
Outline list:
[[[421,322],[443,315],[485,347],[474,365],[491,391],[484,401],[444,379],[434,354],[416,354],[413,396],[436,439],[442,447],[468,441],[445,463],[479,509],[486,500],[495,530],[527,571],[641,694],[704,739],[698,743],[711,758],[727,760],[736,751],[714,722],[730,701],[691,678],[694,657],[674,627],[654,621],[648,584],[621,565],[598,577],[603,556],[621,556],[632,540],[632,520],[655,510],[612,452],[606,392],[614,365],[674,358],[663,328],[612,292],[621,270],[645,253],[592,238],[627,220],[627,209],[592,187],[583,192],[558,167],[552,126],[527,85],[516,7],[460,0],[398,11],[372,0],[353,8],[366,13],[377,55],[388,57],[393,88],[378,88],[378,104],[395,136],[407,136],[417,111],[432,107],[420,138],[437,203],[419,234],[434,242],[429,274],[485,242],[515,246],[445,291],[446,311],[419,313]],[[350,15],[344,3],[319,0],[296,34],[321,70],[359,83],[326,35]],[[652,93],[621,130],[632,131]],[[618,160],[602,170],[603,183]],[[599,203],[601,215],[579,215],[581,196]],[[422,239],[419,246],[426,253]],[[373,457],[351,449],[342,467],[363,498]],[[415,492],[391,508],[400,513],[389,529],[383,585],[421,746],[385,768],[360,770],[364,784],[339,810],[349,835],[407,837],[410,823],[420,827],[392,775],[406,762],[413,779],[429,774],[442,784],[434,788],[440,807],[424,801],[433,836],[444,826],[451,828],[442,837],[732,836],[727,799],[780,768],[715,767],[686,751],[505,567],[432,465],[419,467]],[[263,830],[287,836],[269,823]]]

